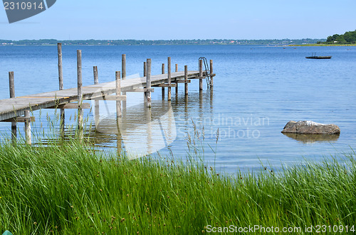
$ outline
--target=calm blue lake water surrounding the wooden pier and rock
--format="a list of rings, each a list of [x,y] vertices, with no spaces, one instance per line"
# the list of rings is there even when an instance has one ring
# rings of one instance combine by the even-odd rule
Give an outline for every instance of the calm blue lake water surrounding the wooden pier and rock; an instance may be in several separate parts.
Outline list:
[[[201,56],[214,60],[214,91],[207,90],[204,84],[204,92],[199,94],[199,82],[192,80],[189,97],[184,99],[184,85],[181,84],[177,96],[172,89],[172,110],[167,112],[166,119],[152,122],[151,136],[169,131],[168,136],[172,138],[164,140],[168,147],[159,151],[162,156],[172,151],[175,157],[184,158],[189,152],[187,133],[194,136],[194,125],[200,133],[204,126],[201,157],[227,173],[236,173],[239,169],[260,170],[261,163],[279,168],[302,164],[303,160],[318,162],[331,155],[351,153],[355,148],[355,47],[63,45],[65,88],[76,86],[77,49],[83,54],[83,85],[93,84],[93,65],[98,66],[100,82],[115,80],[115,70],[121,70],[121,54],[124,53],[127,55],[127,75],[142,76],[146,58],[152,58],[153,75],[161,73],[161,65],[167,63],[168,56],[172,57],[173,64],[179,65],[179,71],[184,65],[188,65],[189,70],[197,70]],[[305,59],[312,53],[333,55],[333,58]],[[0,47],[0,99],[9,97],[9,71],[15,72],[16,96],[58,89],[56,46]],[[138,102],[130,102],[130,99]],[[142,99],[142,94],[128,96],[128,122],[144,119],[145,109],[140,107]],[[160,88],[155,88],[152,99],[155,101],[153,113],[155,109],[168,110],[169,103],[162,102]],[[100,109],[111,110],[112,114],[112,106],[115,107],[115,102],[100,104]],[[93,113],[86,110],[85,116],[94,123]],[[53,110],[34,112],[35,131],[48,131],[47,114],[56,119]],[[75,124],[74,115],[75,110],[66,110],[66,124]],[[92,141],[98,148],[141,148],[146,138],[140,131],[145,132],[145,124],[142,128],[140,124],[132,126],[125,136],[117,137],[114,116],[105,116],[105,121],[97,125],[97,131],[89,131]],[[341,134],[316,140],[285,136],[281,131],[290,120],[337,124]],[[22,124],[19,126],[22,132]],[[11,124],[0,123],[3,135],[9,135],[10,129]],[[58,133],[58,129],[56,131]]]

